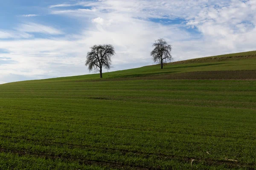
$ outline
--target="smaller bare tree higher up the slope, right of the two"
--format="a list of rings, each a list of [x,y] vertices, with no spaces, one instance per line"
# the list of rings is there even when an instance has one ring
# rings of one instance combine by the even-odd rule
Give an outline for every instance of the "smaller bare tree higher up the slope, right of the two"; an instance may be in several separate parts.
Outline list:
[[[172,45],[169,45],[163,38],[158,39],[152,45],[154,49],[151,51],[150,55],[154,62],[161,63],[161,69],[163,69],[163,63],[167,61],[172,61],[171,51]]]

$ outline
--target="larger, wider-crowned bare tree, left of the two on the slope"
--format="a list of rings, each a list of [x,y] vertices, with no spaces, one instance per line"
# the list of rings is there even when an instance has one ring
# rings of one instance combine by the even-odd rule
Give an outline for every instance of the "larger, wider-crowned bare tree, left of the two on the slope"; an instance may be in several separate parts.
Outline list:
[[[102,78],[102,68],[111,68],[111,57],[116,54],[113,45],[93,45],[91,51],[87,53],[85,65],[90,71],[97,70]]]

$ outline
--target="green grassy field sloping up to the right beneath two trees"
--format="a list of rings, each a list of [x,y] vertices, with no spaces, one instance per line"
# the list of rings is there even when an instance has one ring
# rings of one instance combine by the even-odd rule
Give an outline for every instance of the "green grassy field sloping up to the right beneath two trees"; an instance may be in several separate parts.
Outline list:
[[[256,169],[256,51],[211,58],[0,85],[0,169]]]

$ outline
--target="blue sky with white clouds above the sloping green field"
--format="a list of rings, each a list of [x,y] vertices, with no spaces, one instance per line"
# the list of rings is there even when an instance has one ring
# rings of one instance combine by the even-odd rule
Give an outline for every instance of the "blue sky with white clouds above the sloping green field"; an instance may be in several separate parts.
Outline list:
[[[95,44],[110,71],[152,65],[154,40],[174,61],[256,50],[256,0],[0,0],[0,84],[93,74]]]

